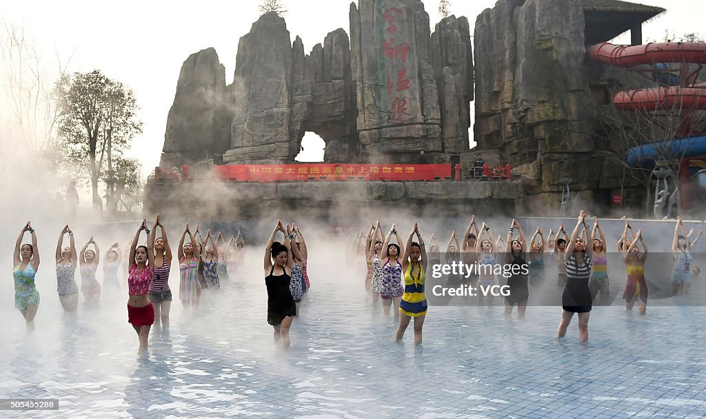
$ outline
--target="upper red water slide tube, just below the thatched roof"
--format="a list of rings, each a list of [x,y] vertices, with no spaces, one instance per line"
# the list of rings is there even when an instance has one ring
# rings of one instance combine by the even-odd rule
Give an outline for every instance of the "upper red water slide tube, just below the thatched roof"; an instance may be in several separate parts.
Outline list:
[[[662,42],[633,47],[602,42],[588,47],[586,52],[594,60],[623,68],[657,63],[706,64],[706,43],[702,42]]]

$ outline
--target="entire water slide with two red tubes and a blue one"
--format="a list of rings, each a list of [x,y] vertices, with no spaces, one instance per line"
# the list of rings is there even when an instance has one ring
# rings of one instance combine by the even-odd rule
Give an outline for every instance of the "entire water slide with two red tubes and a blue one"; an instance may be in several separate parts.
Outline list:
[[[591,59],[612,66],[632,68],[635,66],[652,65],[657,71],[666,69],[664,63],[706,64],[706,43],[700,42],[665,42],[645,45],[623,46],[609,42],[588,47],[587,54]],[[686,66],[683,66],[686,68]],[[688,71],[682,73],[687,74]],[[653,76],[657,75],[653,73]],[[651,89],[628,90],[618,92],[614,97],[617,109],[642,109],[655,111],[659,109],[705,110],[706,83],[695,83],[696,72],[688,74],[686,80],[677,75],[662,73],[654,77],[660,81],[667,78],[672,87],[654,87]],[[678,84],[678,86],[674,86]],[[706,135],[676,140],[654,142],[640,145],[628,150],[627,162],[631,167],[652,166],[654,160],[662,155],[681,157],[706,156]]]

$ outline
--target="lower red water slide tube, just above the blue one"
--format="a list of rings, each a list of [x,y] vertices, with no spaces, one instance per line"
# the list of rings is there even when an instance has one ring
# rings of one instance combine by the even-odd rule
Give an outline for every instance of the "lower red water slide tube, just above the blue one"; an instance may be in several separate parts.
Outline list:
[[[617,109],[656,111],[659,109],[706,109],[706,89],[692,87],[653,87],[618,92],[613,98]]]

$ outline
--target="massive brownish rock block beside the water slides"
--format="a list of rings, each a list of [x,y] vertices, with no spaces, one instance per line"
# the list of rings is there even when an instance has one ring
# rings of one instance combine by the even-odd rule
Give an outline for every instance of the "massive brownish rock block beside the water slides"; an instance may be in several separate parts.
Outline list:
[[[500,0],[476,21],[475,140],[519,164],[532,193],[562,177],[598,186],[583,21],[581,0]]]

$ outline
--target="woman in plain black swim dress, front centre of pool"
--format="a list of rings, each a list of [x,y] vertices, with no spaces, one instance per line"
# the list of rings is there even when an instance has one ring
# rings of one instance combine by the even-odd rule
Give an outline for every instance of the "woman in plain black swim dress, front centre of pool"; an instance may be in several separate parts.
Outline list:
[[[277,231],[285,233],[285,244],[275,241]],[[289,280],[292,279],[289,275],[292,273],[293,262],[287,232],[282,226],[282,220],[277,220],[277,226],[270,234],[265,248],[265,286],[268,296],[267,322],[275,329],[275,344],[281,341],[282,348],[289,348],[289,327],[297,315],[297,307],[289,292]]]

